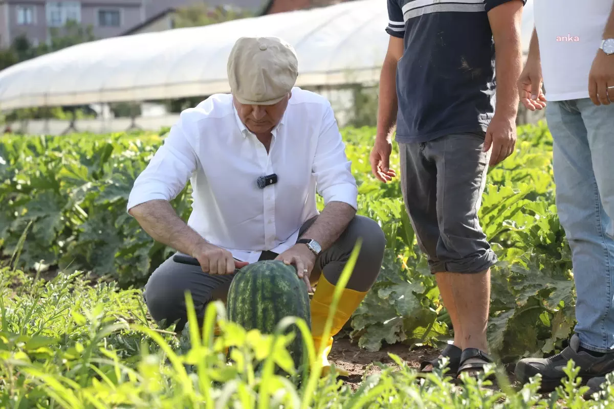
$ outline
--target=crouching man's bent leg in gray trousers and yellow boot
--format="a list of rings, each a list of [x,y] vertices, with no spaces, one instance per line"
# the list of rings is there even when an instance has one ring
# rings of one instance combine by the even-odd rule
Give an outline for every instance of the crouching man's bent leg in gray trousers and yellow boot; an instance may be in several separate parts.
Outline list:
[[[301,228],[301,233],[308,229],[314,220],[313,218],[305,223]],[[330,336],[324,340],[322,332],[324,332],[328,310],[333,300],[335,285],[358,239],[361,239],[362,243],[356,265],[346,288],[341,292],[339,304],[333,315]],[[322,360],[324,366],[322,375],[327,375],[330,370],[328,354],[333,345],[333,336],[341,331],[375,283],[384,259],[385,248],[386,236],[379,224],[365,216],[355,216],[335,244],[322,251],[316,259],[310,276],[311,283],[317,283],[316,291],[311,299],[311,334],[316,353],[323,342],[326,345],[324,353],[318,358]],[[338,372],[341,376],[348,376],[348,373],[343,370],[338,369]]]

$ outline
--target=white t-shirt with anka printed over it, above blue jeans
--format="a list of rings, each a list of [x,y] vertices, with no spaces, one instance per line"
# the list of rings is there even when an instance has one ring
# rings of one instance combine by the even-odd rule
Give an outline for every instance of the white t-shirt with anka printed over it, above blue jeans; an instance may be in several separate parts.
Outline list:
[[[614,0],[533,2],[548,101],[589,97],[588,74],[613,4]]]

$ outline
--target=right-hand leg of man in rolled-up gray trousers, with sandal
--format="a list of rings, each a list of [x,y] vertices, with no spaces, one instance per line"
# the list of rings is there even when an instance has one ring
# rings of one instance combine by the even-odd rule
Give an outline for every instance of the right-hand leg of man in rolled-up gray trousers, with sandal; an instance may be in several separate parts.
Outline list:
[[[486,327],[490,305],[490,268],[497,256],[481,229],[478,212],[486,186],[491,150],[484,134],[454,134],[435,140],[426,154],[437,164],[437,220],[440,240],[433,266],[446,308],[456,310],[462,331],[458,374],[474,375],[488,356]]]

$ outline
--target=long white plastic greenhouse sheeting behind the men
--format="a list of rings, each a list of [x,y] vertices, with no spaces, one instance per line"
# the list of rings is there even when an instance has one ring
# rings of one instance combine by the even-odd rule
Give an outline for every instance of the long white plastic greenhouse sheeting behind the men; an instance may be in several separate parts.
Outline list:
[[[526,49],[530,1],[523,15]],[[228,93],[227,58],[241,36],[277,36],[292,44],[297,86],[377,82],[387,23],[386,0],[356,0],[79,44],[1,71],[0,110]]]

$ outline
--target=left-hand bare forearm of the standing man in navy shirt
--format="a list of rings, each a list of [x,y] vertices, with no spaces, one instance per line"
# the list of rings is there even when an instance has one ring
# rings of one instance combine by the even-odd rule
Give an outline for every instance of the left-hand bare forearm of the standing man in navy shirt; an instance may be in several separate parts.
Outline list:
[[[386,58],[379,75],[378,138],[390,138],[397,122],[397,61]]]

